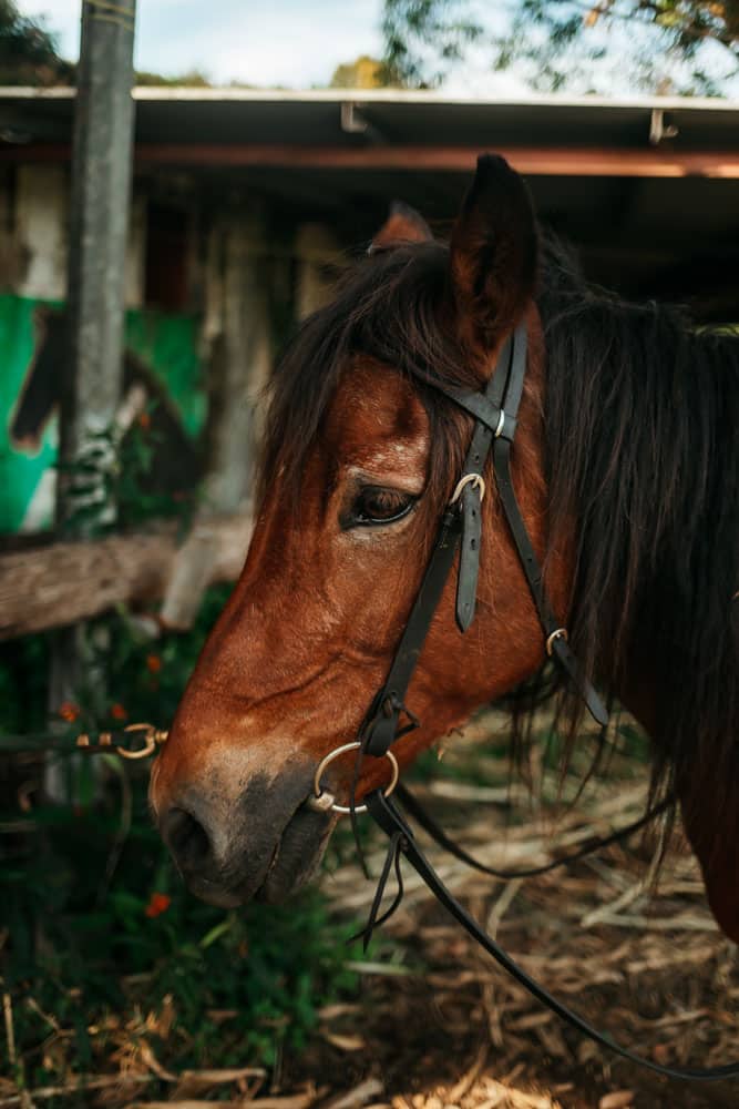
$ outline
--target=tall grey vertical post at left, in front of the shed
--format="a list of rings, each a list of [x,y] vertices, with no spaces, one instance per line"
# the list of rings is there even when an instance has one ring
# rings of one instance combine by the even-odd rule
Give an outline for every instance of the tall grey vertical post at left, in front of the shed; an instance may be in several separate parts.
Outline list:
[[[78,538],[99,533],[115,519],[111,478],[123,373],[134,22],[135,0],[82,2],[70,203],[69,355],[57,491],[58,526]],[[104,683],[94,672],[89,639],[80,625],[58,633],[50,679],[52,712],[74,696],[83,669],[85,688],[94,691],[102,710]],[[68,793],[52,766],[47,788],[55,797]]]

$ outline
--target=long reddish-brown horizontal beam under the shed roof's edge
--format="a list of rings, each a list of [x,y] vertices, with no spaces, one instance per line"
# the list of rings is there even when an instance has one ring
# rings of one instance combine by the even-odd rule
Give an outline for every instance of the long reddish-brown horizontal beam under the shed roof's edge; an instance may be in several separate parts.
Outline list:
[[[497,146],[520,173],[532,176],[584,177],[739,177],[738,150],[677,151],[668,149],[606,150],[599,147]],[[480,146],[294,146],[244,143],[140,143],[137,166],[279,167],[311,170],[440,170],[471,173]],[[69,159],[63,144],[10,146],[0,163],[59,162]]]

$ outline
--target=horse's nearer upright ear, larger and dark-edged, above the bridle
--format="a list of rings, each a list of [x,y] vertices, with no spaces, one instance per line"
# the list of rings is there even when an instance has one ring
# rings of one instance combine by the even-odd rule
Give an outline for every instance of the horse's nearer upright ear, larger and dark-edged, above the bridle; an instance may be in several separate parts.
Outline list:
[[[450,245],[460,336],[494,346],[521,318],[536,283],[537,236],[528,190],[507,162],[478,159]]]

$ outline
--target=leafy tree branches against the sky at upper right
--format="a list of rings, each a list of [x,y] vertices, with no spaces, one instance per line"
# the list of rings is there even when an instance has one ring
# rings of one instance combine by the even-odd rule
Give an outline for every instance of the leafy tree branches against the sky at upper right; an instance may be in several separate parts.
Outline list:
[[[739,0],[516,0],[505,28],[480,10],[471,0],[384,0],[386,60],[417,88],[440,83],[483,42],[494,69],[515,63],[547,91],[628,83],[718,94],[739,73]]]

